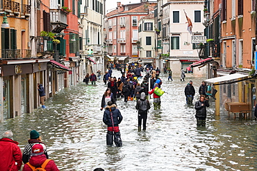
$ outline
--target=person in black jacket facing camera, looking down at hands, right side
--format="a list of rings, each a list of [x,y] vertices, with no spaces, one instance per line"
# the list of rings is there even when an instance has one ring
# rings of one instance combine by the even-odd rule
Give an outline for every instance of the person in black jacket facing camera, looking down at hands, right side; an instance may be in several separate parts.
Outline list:
[[[197,110],[195,118],[197,118],[197,126],[206,125],[206,107],[209,107],[208,99],[204,95],[200,96],[200,100],[195,102],[194,109]]]

